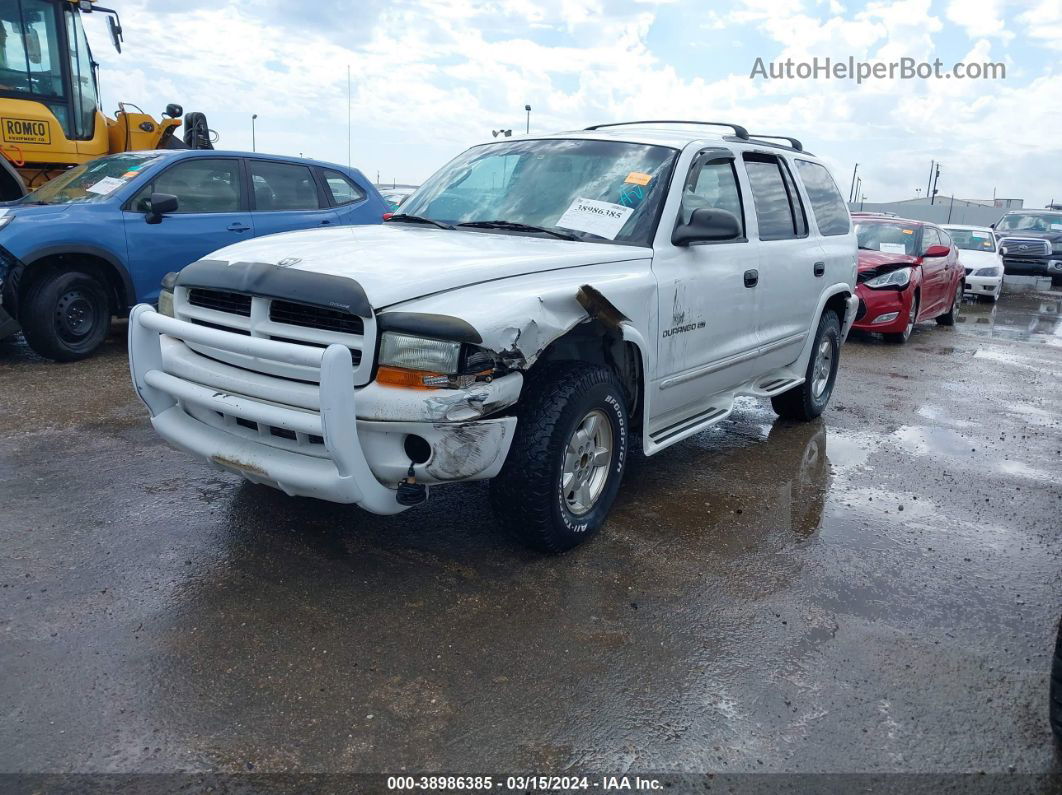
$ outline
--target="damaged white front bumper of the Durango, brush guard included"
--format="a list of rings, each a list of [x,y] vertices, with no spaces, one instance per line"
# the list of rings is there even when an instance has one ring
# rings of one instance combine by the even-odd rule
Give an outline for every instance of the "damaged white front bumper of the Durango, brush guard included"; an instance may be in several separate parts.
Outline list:
[[[186,343],[319,369],[320,382],[234,367]],[[395,489],[410,466],[407,436],[428,443],[430,455],[414,473],[417,482],[434,484],[493,478],[516,427],[511,416],[446,421],[455,408],[462,417],[470,411],[459,395],[356,388],[343,345],[244,336],[174,319],[147,305],[130,314],[130,369],[152,425],[174,447],[289,495],[355,503],[376,514],[405,509]],[[521,382],[519,374],[497,379],[475,402],[489,408],[515,400]],[[423,416],[380,419],[389,408],[411,416],[395,411],[401,400],[393,393],[424,404]]]

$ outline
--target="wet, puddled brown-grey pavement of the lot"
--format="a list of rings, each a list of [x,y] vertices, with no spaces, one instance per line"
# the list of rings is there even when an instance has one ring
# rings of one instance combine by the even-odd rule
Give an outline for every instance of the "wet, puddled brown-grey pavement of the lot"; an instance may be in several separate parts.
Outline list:
[[[854,336],[821,421],[634,461],[560,557],[165,447],[0,345],[0,771],[1062,771],[1062,295]]]

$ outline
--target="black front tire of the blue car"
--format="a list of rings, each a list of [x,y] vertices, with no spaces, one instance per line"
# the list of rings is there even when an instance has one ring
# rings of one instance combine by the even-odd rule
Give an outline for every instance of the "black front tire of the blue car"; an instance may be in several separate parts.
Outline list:
[[[71,301],[84,325],[74,332]],[[80,271],[51,271],[30,286],[18,319],[29,346],[46,359],[74,362],[92,353],[110,330],[110,299],[99,279]]]

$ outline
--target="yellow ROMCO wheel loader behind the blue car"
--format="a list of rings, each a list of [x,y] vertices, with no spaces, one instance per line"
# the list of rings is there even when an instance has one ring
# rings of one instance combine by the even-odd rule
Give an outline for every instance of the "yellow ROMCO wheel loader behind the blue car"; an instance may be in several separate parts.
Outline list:
[[[116,152],[213,149],[202,114],[188,114],[179,135],[179,105],[161,121],[126,103],[104,116],[83,14],[107,15],[121,52],[118,14],[96,0],[0,0],[0,201]]]

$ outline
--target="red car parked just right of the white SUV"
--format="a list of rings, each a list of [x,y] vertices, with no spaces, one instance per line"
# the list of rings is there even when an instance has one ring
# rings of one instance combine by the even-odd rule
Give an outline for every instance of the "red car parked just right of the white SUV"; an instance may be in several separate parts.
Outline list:
[[[924,221],[853,213],[859,242],[853,328],[905,343],[920,321],[955,325],[965,271],[947,232]]]

